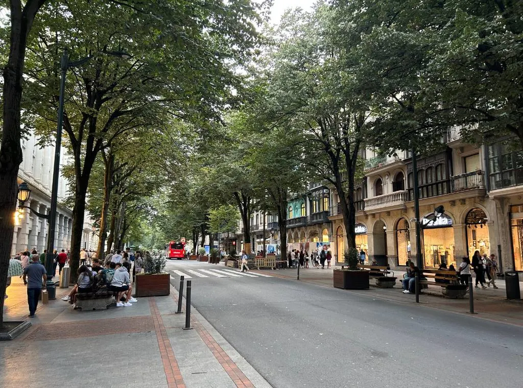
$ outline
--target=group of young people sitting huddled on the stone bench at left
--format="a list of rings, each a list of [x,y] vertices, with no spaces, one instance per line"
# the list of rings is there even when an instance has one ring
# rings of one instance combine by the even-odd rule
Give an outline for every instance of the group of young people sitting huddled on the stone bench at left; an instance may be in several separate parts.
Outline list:
[[[129,307],[138,302],[132,296],[132,286],[129,275],[130,263],[105,263],[105,268],[100,266],[99,260],[94,259],[92,267],[82,265],[78,268],[78,279],[71,292],[62,298],[75,306],[76,294],[96,292],[106,287],[116,295],[117,307]],[[76,306],[75,306],[76,307]]]

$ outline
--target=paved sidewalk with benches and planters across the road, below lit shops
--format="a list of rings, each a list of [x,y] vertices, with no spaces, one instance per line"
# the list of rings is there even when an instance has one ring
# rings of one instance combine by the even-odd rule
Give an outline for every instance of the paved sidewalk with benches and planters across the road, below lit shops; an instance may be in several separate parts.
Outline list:
[[[254,273],[270,273],[271,276],[283,279],[297,279],[297,269],[256,270]],[[469,294],[465,299],[449,299],[441,294],[439,287],[429,286],[419,295],[419,304],[415,302],[415,295],[402,293],[400,279],[403,279],[404,271],[394,271],[397,277],[396,285],[391,289],[382,289],[374,286],[375,280],[370,280],[369,290],[340,290],[343,292],[358,293],[361,296],[382,299],[394,303],[414,304],[432,309],[443,310],[456,314],[467,314],[476,318],[487,319],[493,322],[503,322],[516,326],[523,326],[523,300],[507,300],[505,280],[497,279],[497,290],[490,287],[486,290],[474,288],[474,312],[470,315]],[[333,287],[333,269],[315,269],[314,267],[300,268],[300,282],[316,284],[317,286]],[[523,291],[523,282],[519,282],[519,288]]]

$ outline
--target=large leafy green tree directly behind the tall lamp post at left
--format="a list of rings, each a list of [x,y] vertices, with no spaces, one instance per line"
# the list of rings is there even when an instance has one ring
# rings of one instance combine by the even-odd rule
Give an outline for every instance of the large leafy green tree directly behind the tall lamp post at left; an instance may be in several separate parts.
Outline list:
[[[220,117],[230,90],[241,88],[233,67],[256,44],[253,7],[219,0],[190,4],[98,0],[45,8],[48,22],[35,32],[35,66],[27,71],[28,111],[40,117],[39,133],[52,134],[59,48],[68,48],[75,59],[92,56],[68,73],[66,84],[64,130],[75,162],[72,273],[78,265],[88,181],[103,147],[169,116],[198,122],[204,130],[206,119]],[[108,55],[121,49],[133,57]]]

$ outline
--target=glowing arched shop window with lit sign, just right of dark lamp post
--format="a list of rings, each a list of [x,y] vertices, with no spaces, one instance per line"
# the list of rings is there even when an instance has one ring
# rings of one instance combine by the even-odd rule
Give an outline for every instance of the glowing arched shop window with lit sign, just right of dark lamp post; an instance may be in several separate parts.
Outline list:
[[[441,263],[456,267],[452,219],[443,214],[435,219],[422,219],[423,259],[425,267],[439,267]]]

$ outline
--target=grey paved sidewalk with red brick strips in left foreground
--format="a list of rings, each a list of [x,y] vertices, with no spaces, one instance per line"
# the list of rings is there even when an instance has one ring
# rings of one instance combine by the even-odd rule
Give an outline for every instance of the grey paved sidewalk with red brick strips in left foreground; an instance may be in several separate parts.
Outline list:
[[[1,387],[270,387],[195,309],[193,329],[182,330],[185,310],[174,314],[173,287],[132,307],[86,312],[60,300],[69,290],[56,288],[56,299],[27,318],[26,288],[13,278],[4,320],[31,319],[32,326],[0,342]]]

